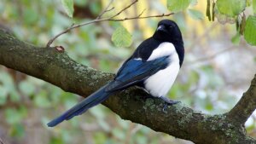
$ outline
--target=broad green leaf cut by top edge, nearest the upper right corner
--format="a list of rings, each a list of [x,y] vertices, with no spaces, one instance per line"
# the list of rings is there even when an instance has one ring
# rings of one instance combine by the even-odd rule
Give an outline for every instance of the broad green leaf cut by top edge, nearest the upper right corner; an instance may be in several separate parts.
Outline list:
[[[220,14],[234,17],[246,8],[246,0],[217,0],[217,8]]]

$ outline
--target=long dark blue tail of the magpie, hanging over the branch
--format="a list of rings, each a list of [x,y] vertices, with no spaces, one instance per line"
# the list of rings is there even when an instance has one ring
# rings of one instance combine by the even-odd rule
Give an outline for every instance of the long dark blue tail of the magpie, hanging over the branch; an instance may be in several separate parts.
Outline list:
[[[54,127],[55,125],[60,124],[64,120],[69,120],[75,116],[78,116],[86,112],[90,107],[94,107],[102,101],[105,101],[112,94],[111,92],[106,91],[107,86],[108,84],[103,86],[101,89],[98,89],[95,93],[91,94],[86,99],[79,102],[71,109],[67,110],[67,112],[61,114],[60,117],[53,119],[47,125],[49,127]]]

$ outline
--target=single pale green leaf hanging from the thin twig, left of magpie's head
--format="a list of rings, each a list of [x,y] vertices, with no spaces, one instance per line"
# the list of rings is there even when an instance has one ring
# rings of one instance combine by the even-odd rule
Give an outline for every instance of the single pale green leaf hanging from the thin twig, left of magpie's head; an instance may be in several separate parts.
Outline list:
[[[117,47],[129,47],[131,46],[132,37],[131,34],[125,29],[124,26],[119,26],[111,37],[114,45]]]

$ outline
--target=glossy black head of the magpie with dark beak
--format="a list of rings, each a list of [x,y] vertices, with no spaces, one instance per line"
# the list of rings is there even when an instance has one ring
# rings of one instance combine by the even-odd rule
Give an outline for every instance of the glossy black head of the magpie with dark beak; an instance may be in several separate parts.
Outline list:
[[[172,20],[160,20],[153,37],[162,42],[183,43],[182,34]]]

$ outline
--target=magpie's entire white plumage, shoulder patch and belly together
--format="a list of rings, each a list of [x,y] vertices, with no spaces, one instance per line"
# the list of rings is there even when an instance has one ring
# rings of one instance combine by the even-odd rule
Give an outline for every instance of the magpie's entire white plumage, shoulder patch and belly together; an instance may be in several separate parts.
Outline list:
[[[154,49],[148,60],[154,60],[169,55],[170,64],[166,69],[156,72],[144,81],[145,89],[156,97],[165,96],[174,83],[179,71],[179,59],[172,43],[161,43]]]

